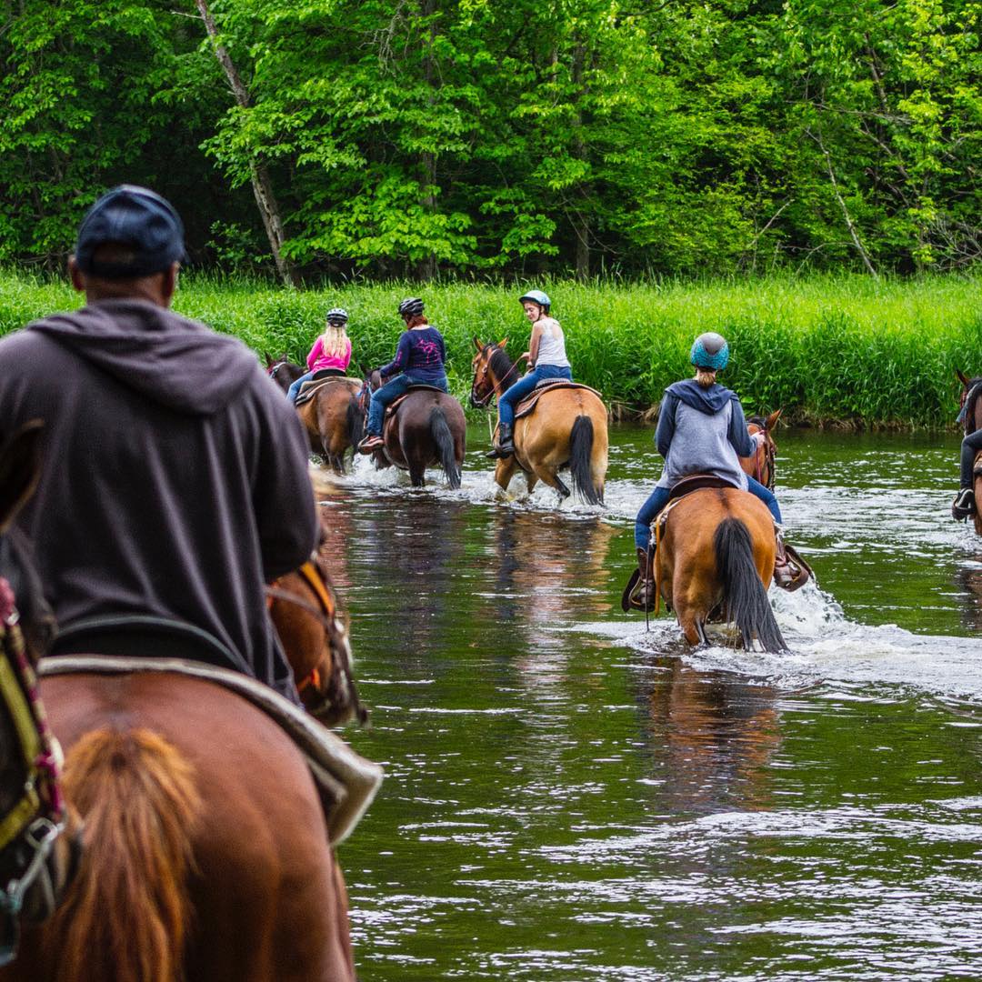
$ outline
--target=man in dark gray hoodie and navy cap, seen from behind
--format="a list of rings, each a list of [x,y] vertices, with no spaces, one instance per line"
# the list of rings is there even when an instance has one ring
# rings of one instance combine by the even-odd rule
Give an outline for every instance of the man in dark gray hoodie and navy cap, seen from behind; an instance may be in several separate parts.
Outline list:
[[[109,191],[69,263],[86,305],[0,341],[0,427],[45,427],[18,522],[56,653],[200,658],[298,701],[263,584],[315,546],[305,439],[245,345],[169,309],[183,257],[166,200]]]

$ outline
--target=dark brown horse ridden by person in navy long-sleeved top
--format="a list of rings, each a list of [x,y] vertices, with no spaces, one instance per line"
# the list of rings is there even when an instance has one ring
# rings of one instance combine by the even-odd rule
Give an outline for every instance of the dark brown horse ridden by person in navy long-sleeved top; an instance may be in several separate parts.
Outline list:
[[[360,397],[364,412],[368,410],[369,393],[381,383],[379,373],[372,372]],[[407,394],[386,410],[384,446],[375,451],[375,464],[394,464],[400,470],[408,470],[414,488],[423,486],[428,466],[440,466],[450,487],[459,488],[466,429],[464,408],[453,396],[430,386],[410,386]]]

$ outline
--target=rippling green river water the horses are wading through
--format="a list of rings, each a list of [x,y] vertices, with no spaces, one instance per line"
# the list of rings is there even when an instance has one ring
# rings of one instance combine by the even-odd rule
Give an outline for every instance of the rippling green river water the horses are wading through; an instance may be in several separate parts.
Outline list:
[[[340,849],[374,980],[982,978],[982,540],[954,437],[778,433],[791,652],[624,615],[650,429],[607,508],[411,491],[324,501],[386,781]],[[513,490],[519,490],[518,480]],[[780,593],[780,595],[775,595]],[[725,641],[725,639],[723,639]]]

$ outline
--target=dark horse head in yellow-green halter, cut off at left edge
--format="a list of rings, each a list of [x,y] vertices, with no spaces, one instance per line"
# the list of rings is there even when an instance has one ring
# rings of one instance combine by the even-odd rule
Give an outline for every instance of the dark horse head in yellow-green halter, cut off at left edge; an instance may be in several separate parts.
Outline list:
[[[54,617],[13,527],[40,476],[41,429],[27,423],[0,449],[0,964],[16,953],[19,919],[49,917],[77,868],[61,837],[60,751],[34,677]]]

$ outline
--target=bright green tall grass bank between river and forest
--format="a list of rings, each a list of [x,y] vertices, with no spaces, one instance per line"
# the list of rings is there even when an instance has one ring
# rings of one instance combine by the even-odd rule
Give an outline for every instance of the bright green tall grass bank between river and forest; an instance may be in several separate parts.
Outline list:
[[[575,377],[600,389],[616,412],[657,404],[688,374],[700,331],[733,349],[724,381],[748,411],[785,407],[791,422],[847,426],[952,426],[955,368],[982,374],[982,278],[876,283],[853,276],[668,284],[547,283],[567,332]],[[470,383],[471,337],[510,339],[524,351],[529,325],[514,288],[483,284],[352,285],[286,291],[269,283],[186,277],[175,308],[234,334],[257,353],[300,361],[324,311],[351,314],[355,358],[392,354],[410,294],[427,302],[443,331],[458,395]],[[0,272],[0,333],[76,306],[58,281]]]

